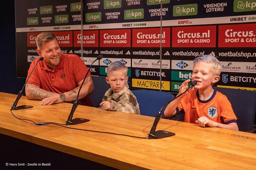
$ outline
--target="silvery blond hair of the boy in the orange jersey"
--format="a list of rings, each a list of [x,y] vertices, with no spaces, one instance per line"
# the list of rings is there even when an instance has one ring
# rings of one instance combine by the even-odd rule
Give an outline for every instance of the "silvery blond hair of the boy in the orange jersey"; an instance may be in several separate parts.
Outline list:
[[[194,59],[194,65],[200,62],[209,63],[212,65],[212,72],[214,76],[219,76],[221,73],[221,64],[220,61],[211,55],[204,55],[200,57],[196,57]]]

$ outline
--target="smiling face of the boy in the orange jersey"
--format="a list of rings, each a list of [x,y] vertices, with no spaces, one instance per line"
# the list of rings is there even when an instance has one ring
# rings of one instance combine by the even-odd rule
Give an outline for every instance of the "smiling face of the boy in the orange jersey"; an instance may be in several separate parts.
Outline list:
[[[200,62],[194,65],[192,81],[197,81],[195,88],[204,90],[208,87],[212,87],[219,79],[220,76],[213,74],[211,63]]]

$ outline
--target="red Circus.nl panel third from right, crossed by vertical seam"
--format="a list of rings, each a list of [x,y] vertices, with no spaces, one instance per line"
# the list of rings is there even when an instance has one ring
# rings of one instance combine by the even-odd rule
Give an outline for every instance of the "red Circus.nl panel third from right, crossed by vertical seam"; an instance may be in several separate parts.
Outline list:
[[[161,35],[162,47],[170,47],[170,28],[133,29],[133,47],[160,47]]]

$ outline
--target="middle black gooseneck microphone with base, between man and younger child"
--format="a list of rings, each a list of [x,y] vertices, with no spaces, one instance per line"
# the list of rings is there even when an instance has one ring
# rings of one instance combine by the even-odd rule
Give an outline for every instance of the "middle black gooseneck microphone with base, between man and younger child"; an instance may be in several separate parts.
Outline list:
[[[87,77],[87,75],[88,75],[88,73],[89,73],[89,70],[90,70],[90,68],[92,67],[93,63],[94,63],[96,60],[101,60],[102,58],[103,58],[103,56],[102,56],[102,55],[99,55],[99,56],[92,62],[92,64],[91,64],[90,67],[88,68],[88,71],[87,71],[87,73],[86,73],[86,75],[85,75],[85,77],[84,77],[84,81],[85,81],[85,78]],[[80,124],[80,123],[85,123],[85,122],[90,121],[89,119],[82,119],[82,118],[75,118],[75,119],[72,119],[72,117],[73,117],[73,115],[74,115],[74,112],[75,112],[75,110],[76,110],[76,108],[77,108],[77,106],[78,106],[78,103],[79,103],[78,97],[79,97],[80,90],[81,90],[81,88],[82,88],[82,86],[83,86],[83,84],[84,84],[84,81],[83,81],[83,83],[81,84],[81,86],[80,86],[80,88],[79,88],[79,91],[78,91],[78,93],[77,93],[76,100],[75,100],[75,102],[73,103],[73,106],[72,106],[72,108],[71,108],[70,114],[69,114],[69,116],[68,116],[68,120],[66,121],[66,122],[67,122],[66,125]]]

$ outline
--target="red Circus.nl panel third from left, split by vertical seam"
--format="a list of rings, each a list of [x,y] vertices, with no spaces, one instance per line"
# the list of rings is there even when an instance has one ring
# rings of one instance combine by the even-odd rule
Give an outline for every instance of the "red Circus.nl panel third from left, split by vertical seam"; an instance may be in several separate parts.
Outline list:
[[[83,32],[84,47],[99,47],[99,31]],[[74,47],[81,47],[81,31],[74,31]]]

